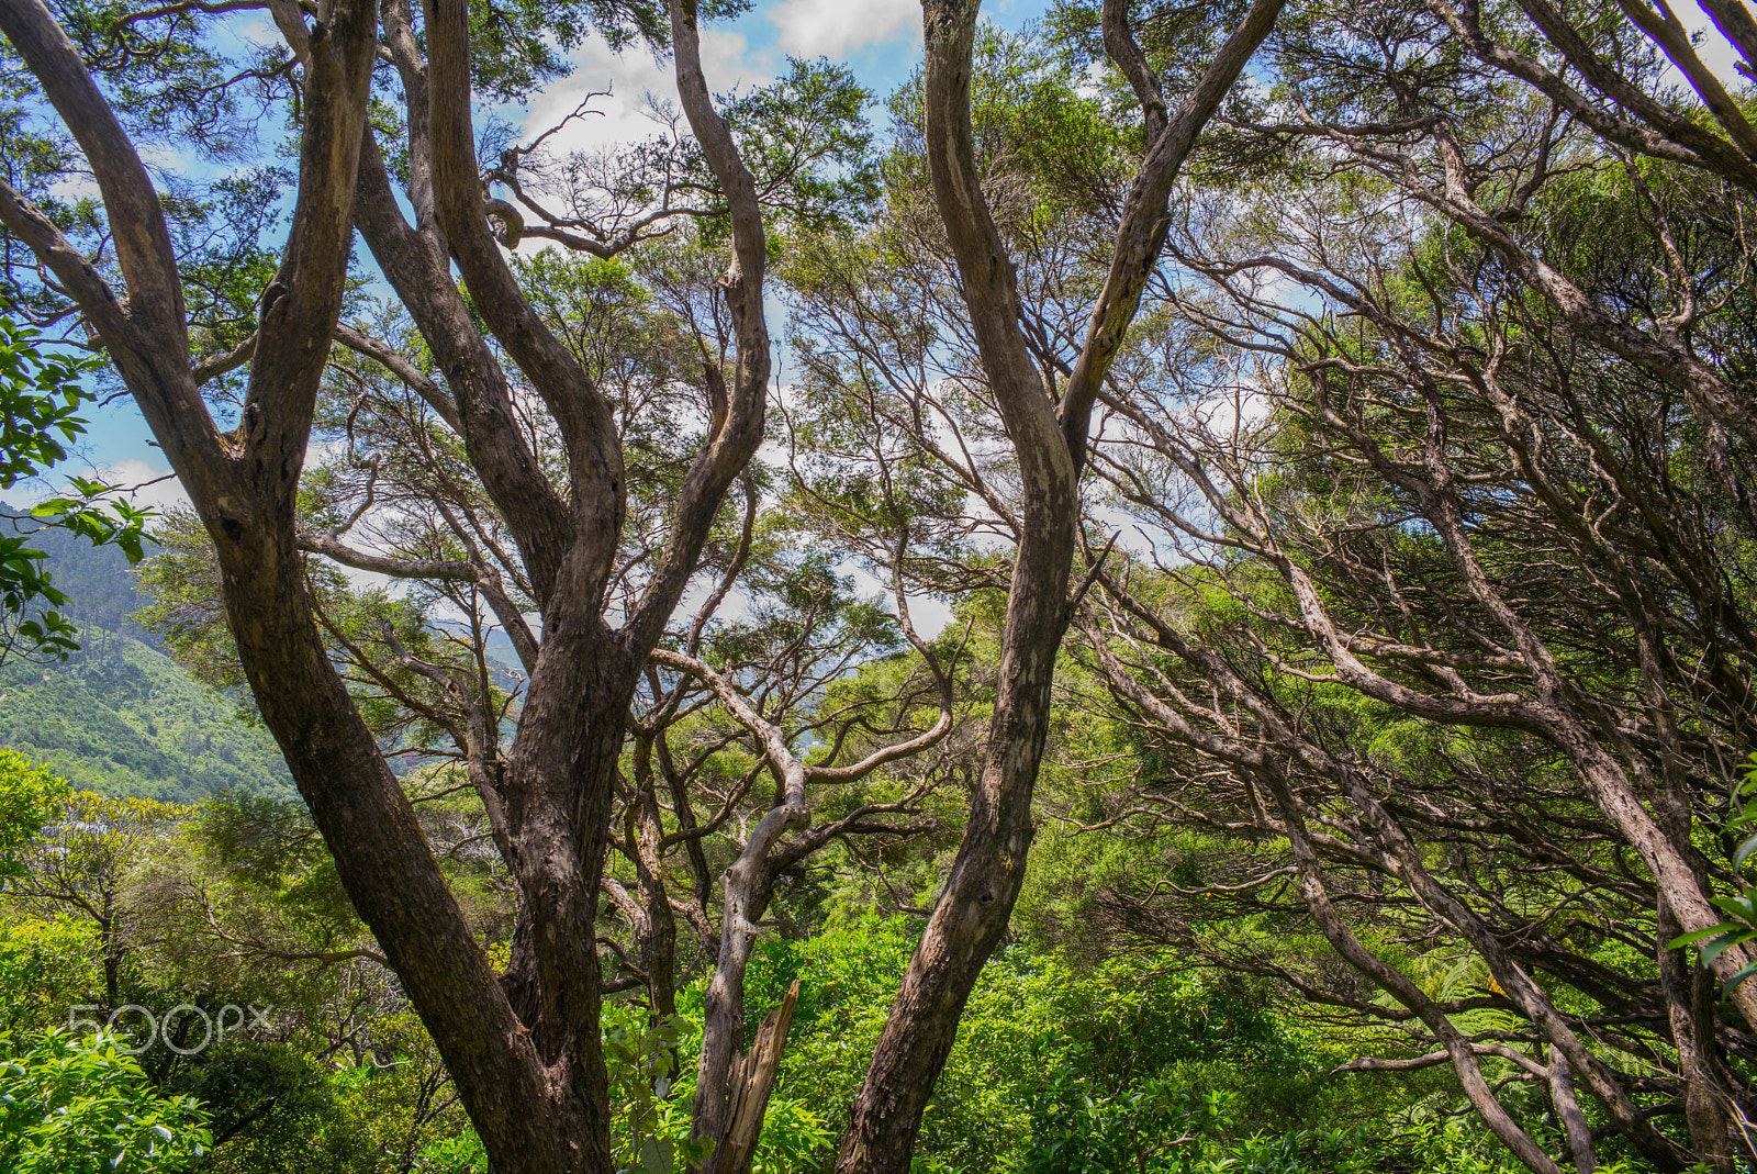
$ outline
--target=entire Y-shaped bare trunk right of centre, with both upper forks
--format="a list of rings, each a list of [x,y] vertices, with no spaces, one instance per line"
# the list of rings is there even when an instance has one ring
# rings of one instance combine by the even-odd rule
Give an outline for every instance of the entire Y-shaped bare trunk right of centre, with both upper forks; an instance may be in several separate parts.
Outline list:
[[[965,1002],[1012,917],[1031,845],[1031,793],[1049,735],[1056,656],[1070,619],[1068,578],[1079,538],[1079,475],[1091,404],[1165,244],[1167,200],[1177,172],[1269,33],[1281,0],[1258,0],[1251,7],[1170,118],[1151,69],[1133,49],[1126,5],[1107,5],[1107,46],[1137,88],[1149,148],[1059,409],[1044,394],[1021,334],[1014,265],[980,190],[970,125],[979,7],[979,0],[922,4],[926,148],[935,204],[958,264],[982,371],[1019,460],[1019,547],[1001,629],[994,715],[970,819],[854,1100],[836,1162],[842,1174],[908,1169],[921,1114],[951,1053]]]

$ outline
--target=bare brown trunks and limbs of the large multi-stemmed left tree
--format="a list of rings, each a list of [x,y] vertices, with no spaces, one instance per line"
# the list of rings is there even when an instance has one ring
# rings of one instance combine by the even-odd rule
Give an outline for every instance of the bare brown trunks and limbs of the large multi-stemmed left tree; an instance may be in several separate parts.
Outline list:
[[[91,162],[125,297],[16,192],[0,193],[0,220],[79,302],[188,489],[218,552],[227,619],[264,721],[357,910],[434,1037],[490,1162],[499,1170],[543,1174],[608,1170],[594,931],[599,872],[629,698],[645,652],[689,585],[726,489],[761,439],[770,357],[752,185],[747,178],[743,202],[733,193],[741,213],[734,227],[741,269],[734,267],[731,295],[747,329],[738,339],[731,404],[687,476],[661,573],[631,627],[611,631],[603,599],[625,499],[617,429],[590,380],[520,295],[487,230],[469,114],[466,5],[437,0],[427,7],[430,70],[408,4],[394,0],[383,14],[385,47],[411,107],[415,227],[397,207],[365,125],[380,51],[376,5],[327,0],[307,18],[297,5],[276,4],[272,14],[304,74],[304,132],[288,244],[246,346],[192,366],[181,276],[158,193],[74,46],[35,0],[0,4],[0,32]],[[705,102],[699,67],[696,83]],[[724,128],[717,146],[731,149]],[[362,353],[392,359],[387,367],[460,432],[518,545],[522,587],[543,613],[538,641],[499,585],[499,573],[480,559],[415,568],[476,578],[515,631],[531,671],[504,763],[490,768],[485,731],[492,724],[480,721],[481,714],[473,715],[466,736],[471,780],[492,800],[495,842],[522,896],[508,975],[497,975],[473,940],[406,796],[334,670],[306,594],[304,548],[353,564],[369,559],[336,534],[300,534],[295,527],[304,450],[339,332],[357,227],[437,359],[445,388],[395,364],[358,332],[341,334]],[[474,309],[560,427],[566,496],[546,482],[524,439],[506,376],[452,281],[452,260]],[[251,367],[241,425],[221,436],[199,380],[242,362]]]

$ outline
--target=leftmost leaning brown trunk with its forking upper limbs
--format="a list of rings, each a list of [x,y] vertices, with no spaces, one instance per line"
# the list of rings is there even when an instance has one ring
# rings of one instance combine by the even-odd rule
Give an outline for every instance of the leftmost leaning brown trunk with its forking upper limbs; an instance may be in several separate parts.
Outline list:
[[[237,432],[220,436],[197,392],[179,274],[146,170],[72,44],[32,0],[0,5],[0,32],[100,178],[127,301],[16,193],[0,200],[0,218],[79,301],[190,492],[264,722],[483,1141],[492,1153],[524,1155],[517,1169],[573,1170],[573,1130],[557,1120],[548,1074],[355,712],[306,594],[293,504],[341,309],[376,21],[372,5],[348,2],[322,5],[309,28],[293,21],[307,91],[299,195]]]

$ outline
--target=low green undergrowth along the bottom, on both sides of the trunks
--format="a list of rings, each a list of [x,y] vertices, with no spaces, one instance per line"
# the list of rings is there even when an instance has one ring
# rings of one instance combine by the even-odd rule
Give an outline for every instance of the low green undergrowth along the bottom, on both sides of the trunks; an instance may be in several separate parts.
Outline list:
[[[63,1100],[84,1114],[54,1118],[60,1141],[26,1135],[35,1118],[0,1127],[19,1146],[9,1153],[37,1162],[16,1156],[25,1165],[9,1169],[112,1156],[98,1149],[118,1114],[148,1141],[153,1125],[170,1134],[119,1169],[483,1169],[432,1044],[297,803],[230,796],[176,808],[60,786],[32,796],[23,759],[0,766],[14,826],[32,803],[47,815],[5,898],[5,1046],[14,1081],[60,1088],[9,1091],[51,1118]],[[436,837],[459,815],[443,807],[427,808]],[[464,884],[485,879],[455,868]],[[803,991],[759,1170],[829,1169],[842,1125],[833,1105],[859,1084],[919,931],[907,914],[873,912],[854,875],[826,870],[791,896],[785,931],[752,965],[754,1009],[780,1002],[794,979]],[[114,916],[100,921],[93,909]],[[1030,900],[1021,912],[1052,921]],[[480,889],[476,916],[504,933],[495,886]],[[1448,1081],[1330,1076],[1355,1056],[1358,1033],[1314,1021],[1270,984],[1202,970],[1179,951],[1093,956],[1095,946],[1091,935],[1021,933],[984,970],[924,1127],[924,1169],[1509,1169],[1481,1130],[1448,1112]],[[146,1047],[139,1012],[118,1019],[114,1040],[65,1030],[70,1007],[74,1018],[121,1005],[163,1018],[179,1004],[209,1014],[255,1005],[267,1025],[244,1016],[246,1030],[232,1023],[211,1047],[199,1047],[207,1032],[188,1011],[176,1040]],[[680,991],[678,1011],[675,1030],[657,1033],[634,1004],[611,1014],[611,1065],[627,1097],[620,1162],[638,1162],[638,1135],[687,1142],[692,1074],[657,1097],[650,1081],[671,1047],[687,1054],[699,1042],[699,982]]]

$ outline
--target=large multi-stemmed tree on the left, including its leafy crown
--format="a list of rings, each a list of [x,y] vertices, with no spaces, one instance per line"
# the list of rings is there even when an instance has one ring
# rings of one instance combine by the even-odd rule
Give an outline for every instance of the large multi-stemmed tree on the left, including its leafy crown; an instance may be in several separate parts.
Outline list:
[[[40,4],[9,4],[0,30],[100,178],[109,230],[97,207],[56,206],[40,167],[21,174],[42,206],[11,188],[0,220],[53,274],[54,285],[35,292],[44,313],[93,332],[190,492],[255,708],[490,1160],[520,1170],[606,1169],[596,926],[629,705],[696,575],[713,569],[705,564],[724,499],[763,439],[771,367],[764,216],[822,214],[857,197],[857,181],[821,179],[817,169],[859,149],[847,130],[859,91],[842,74],[801,67],[722,118],[701,74],[698,11],[683,4],[669,21],[645,5],[596,4],[511,23],[481,21],[450,0],[420,14],[348,0],[311,12],[265,7],[286,51],[228,77],[200,35],[214,14],[65,12],[58,23]],[[538,144],[510,146],[483,172],[473,88],[515,97],[553,76],[545,37],[568,44],[585,21],[617,44],[669,42],[692,141],[638,156],[645,169],[634,174],[604,178],[590,160],[550,160],[545,179]],[[151,81],[155,72],[170,84]],[[197,199],[162,200],[125,121],[151,112],[158,121],[135,123],[144,134],[169,118],[199,149],[235,151],[246,141],[232,121],[244,84],[260,86],[271,107],[290,100],[299,127],[292,213],[278,248],[255,243],[257,221],[209,234],[232,243],[214,250],[197,228],[225,213]],[[380,118],[374,86],[392,95],[394,114]],[[390,146],[392,134],[406,142]],[[485,174],[511,200],[485,202]],[[548,214],[538,181],[578,199]],[[264,209],[279,192],[272,172],[249,185],[234,179],[227,193]],[[669,341],[622,337],[608,371],[601,355],[573,348],[576,323],[546,318],[541,295],[525,294],[520,267],[503,253],[531,236],[608,260],[680,220],[699,221],[726,260],[685,253],[671,276],[654,278],[676,294]],[[355,230],[395,294],[388,325],[402,346],[341,322]],[[467,297],[452,279],[453,262]],[[615,308],[611,327],[631,325],[629,309]],[[348,485],[325,492],[334,476],[300,480],[313,427],[353,424],[322,415],[325,378],[362,378],[332,362],[332,339],[376,364],[367,378],[380,387],[387,374],[397,381],[402,404],[392,409],[402,413],[402,439],[415,441],[402,453],[415,467],[388,467],[388,452],[336,467],[357,478],[348,513],[327,513]],[[629,367],[631,343],[659,351],[657,373]],[[673,399],[671,427],[641,434],[645,404],[618,399],[640,388]],[[235,427],[223,427],[211,402],[235,411]],[[652,438],[668,450],[643,464]],[[399,476],[425,478],[427,496],[374,513],[374,496]],[[302,503],[302,489],[316,492]],[[344,534],[362,518],[413,541],[360,550]],[[436,529],[423,533],[425,524]],[[432,538],[443,550],[408,557],[409,545]],[[510,745],[499,738],[506,694],[481,656],[474,673],[430,659],[445,641],[415,612],[388,598],[355,606],[307,552],[457,583],[452,594],[467,596],[471,624],[492,613],[527,675]],[[527,615],[541,620],[539,633]],[[337,671],[337,656],[350,657],[355,680]],[[408,708],[372,708],[365,691]],[[504,972],[474,938],[376,740],[380,728],[422,722],[459,735],[517,886],[520,923]],[[806,817],[791,787],[775,807],[773,831]],[[705,1088],[712,1107],[719,1090]]]

